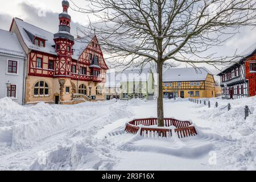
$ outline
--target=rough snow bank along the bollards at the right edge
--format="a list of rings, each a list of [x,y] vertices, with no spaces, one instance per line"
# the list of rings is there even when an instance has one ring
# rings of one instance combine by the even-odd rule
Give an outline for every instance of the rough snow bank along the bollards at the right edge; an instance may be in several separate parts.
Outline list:
[[[201,118],[209,122],[209,126],[225,139],[225,142],[220,144],[225,147],[222,146],[222,150],[218,150],[220,160],[228,164],[226,169],[255,170],[256,97],[218,102],[220,102],[220,107],[205,109],[199,113]],[[229,111],[227,108],[221,109],[228,103],[232,106]],[[251,111],[246,120],[244,119],[245,105],[248,105]]]

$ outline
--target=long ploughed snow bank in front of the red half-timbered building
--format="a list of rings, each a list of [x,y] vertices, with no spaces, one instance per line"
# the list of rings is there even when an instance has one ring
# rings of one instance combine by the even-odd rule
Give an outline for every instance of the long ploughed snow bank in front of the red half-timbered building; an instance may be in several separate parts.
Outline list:
[[[35,106],[24,107],[4,98],[0,101],[0,106],[0,143],[6,143],[16,150],[30,147],[35,142],[82,123],[92,122],[98,117],[104,116],[104,122],[110,123],[114,119],[130,115],[122,103],[111,101],[104,106],[101,102],[74,106],[56,106],[41,102]]]

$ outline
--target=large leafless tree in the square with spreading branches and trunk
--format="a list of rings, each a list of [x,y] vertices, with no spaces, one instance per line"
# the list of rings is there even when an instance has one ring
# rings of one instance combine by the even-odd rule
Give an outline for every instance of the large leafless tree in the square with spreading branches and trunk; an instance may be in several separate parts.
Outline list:
[[[255,26],[256,17],[255,0],[88,0],[84,8],[72,2],[73,10],[93,14],[80,31],[94,31],[116,66],[156,65],[158,126],[164,126],[163,65],[230,63],[231,57],[205,51],[221,46],[240,27]]]

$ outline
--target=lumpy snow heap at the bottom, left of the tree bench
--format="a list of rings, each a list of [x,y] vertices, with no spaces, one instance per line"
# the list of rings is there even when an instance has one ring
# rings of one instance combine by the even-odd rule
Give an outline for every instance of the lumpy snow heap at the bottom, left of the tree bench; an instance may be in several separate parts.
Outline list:
[[[115,164],[106,140],[85,138],[71,146],[57,146],[45,156],[40,156],[30,170],[111,170]]]

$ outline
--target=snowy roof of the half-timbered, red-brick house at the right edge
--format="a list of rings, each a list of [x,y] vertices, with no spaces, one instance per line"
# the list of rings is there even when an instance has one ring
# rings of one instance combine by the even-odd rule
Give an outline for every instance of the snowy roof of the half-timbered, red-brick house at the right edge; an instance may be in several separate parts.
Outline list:
[[[222,71],[220,73],[218,73],[217,75],[220,76],[223,72],[225,72],[230,67],[233,67],[234,65],[243,61],[244,59],[246,59],[250,56],[253,56],[255,53],[256,53],[256,43],[254,43],[253,45],[251,45],[250,47],[245,49],[245,51],[239,53],[238,57],[236,57],[236,59],[233,60],[232,63],[230,63],[230,65],[228,65],[227,67],[222,68]]]

